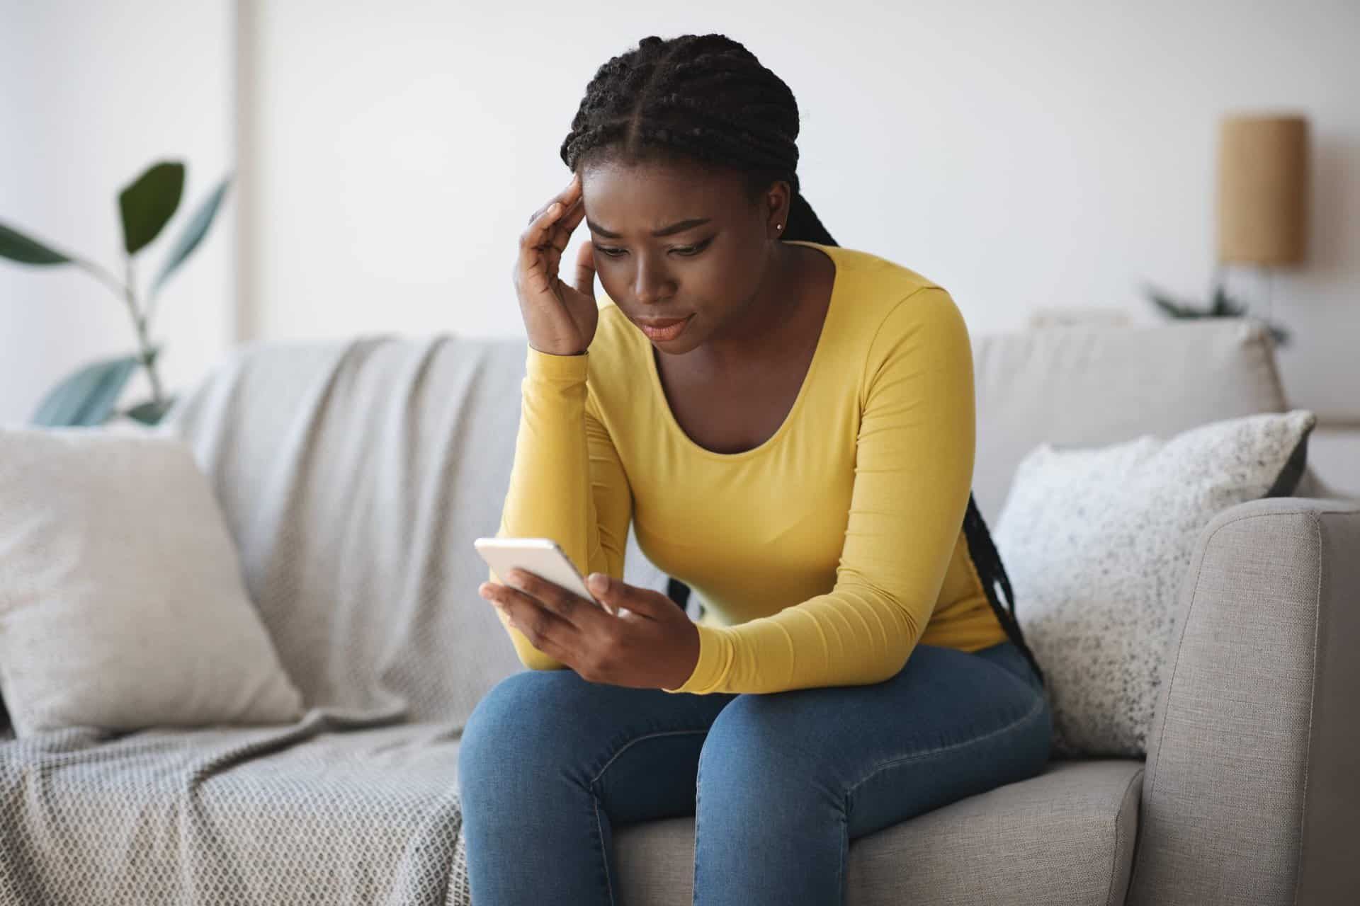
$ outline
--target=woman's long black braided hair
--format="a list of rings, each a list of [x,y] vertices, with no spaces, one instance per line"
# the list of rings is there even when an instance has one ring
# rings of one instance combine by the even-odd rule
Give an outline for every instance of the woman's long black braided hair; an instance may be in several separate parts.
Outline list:
[[[781,239],[835,246],[802,196],[797,137],[793,92],[740,42],[722,34],[650,35],[596,71],[560,156],[571,170],[607,160],[699,160],[729,167],[744,175],[752,204],[782,179],[793,196]],[[971,493],[962,530],[993,613],[1044,683],[1015,618],[1010,580]],[[1010,613],[1001,606],[998,584]],[[666,594],[684,607],[690,588],[670,577]]]

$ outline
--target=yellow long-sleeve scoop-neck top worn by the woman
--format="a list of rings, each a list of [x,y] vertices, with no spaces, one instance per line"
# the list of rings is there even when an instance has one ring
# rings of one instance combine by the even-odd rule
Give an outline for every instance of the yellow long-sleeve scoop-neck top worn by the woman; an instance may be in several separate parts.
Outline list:
[[[665,691],[874,683],[918,642],[1006,638],[963,534],[975,441],[963,315],[902,265],[797,244],[835,264],[831,303],[793,407],[752,450],[684,433],[651,342],[607,296],[583,355],[528,348],[498,534],[554,538],[582,575],[622,577],[631,519],[647,558],[704,604],[694,672]],[[525,666],[563,667],[500,619]]]

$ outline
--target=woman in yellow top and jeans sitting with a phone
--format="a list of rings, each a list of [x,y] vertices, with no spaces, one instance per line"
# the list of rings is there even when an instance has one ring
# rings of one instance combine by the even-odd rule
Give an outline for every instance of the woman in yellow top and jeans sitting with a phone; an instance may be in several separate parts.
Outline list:
[[[518,573],[481,585],[533,670],[462,738],[479,906],[613,903],[612,829],[690,814],[694,902],[840,903],[851,839],[1049,758],[970,493],[963,318],[835,244],[798,193],[797,133],[740,43],[645,38],[588,86],[571,182],[521,236],[499,534],[556,539],[630,613]],[[573,288],[556,274],[582,220]],[[620,580],[630,520],[698,622]]]

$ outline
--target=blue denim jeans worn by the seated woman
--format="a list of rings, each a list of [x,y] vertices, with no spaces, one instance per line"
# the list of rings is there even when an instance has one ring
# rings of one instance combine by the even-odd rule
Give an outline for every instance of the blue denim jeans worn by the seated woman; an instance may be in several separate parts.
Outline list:
[[[767,694],[514,674],[458,751],[473,903],[617,903],[612,829],[676,815],[695,815],[695,903],[842,903],[851,839],[1040,773],[1051,731],[1010,641]]]

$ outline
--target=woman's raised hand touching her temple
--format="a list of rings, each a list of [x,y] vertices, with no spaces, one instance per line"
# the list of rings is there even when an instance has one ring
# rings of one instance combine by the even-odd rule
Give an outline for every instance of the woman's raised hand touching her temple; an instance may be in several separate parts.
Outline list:
[[[577,255],[577,285],[558,277],[558,265],[586,209],[581,175],[529,219],[520,235],[514,289],[529,345],[555,356],[583,353],[594,340],[600,310],[594,300],[594,249],[586,242]]]

